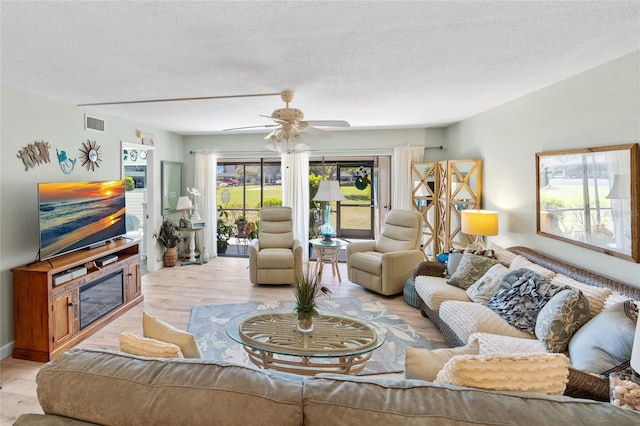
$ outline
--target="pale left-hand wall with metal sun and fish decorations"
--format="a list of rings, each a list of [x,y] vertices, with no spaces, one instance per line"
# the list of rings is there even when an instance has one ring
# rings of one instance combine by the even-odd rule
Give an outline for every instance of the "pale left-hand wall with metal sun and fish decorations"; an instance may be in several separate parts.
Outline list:
[[[5,153],[0,162],[0,358],[4,358],[10,354],[13,341],[11,268],[32,262],[38,252],[37,183],[120,179],[121,141],[140,141],[136,129],[141,129],[152,133],[155,139],[155,211],[160,212],[160,161],[182,161],[182,137],[6,85],[1,86],[0,95],[0,142]],[[106,120],[104,133],[84,129],[85,112]],[[73,172],[64,174],[56,148],[76,158],[87,139],[100,145],[100,167],[87,171],[78,158]],[[25,171],[16,155],[26,145],[40,140],[51,144],[51,162]],[[156,218],[159,221],[160,215]]]

